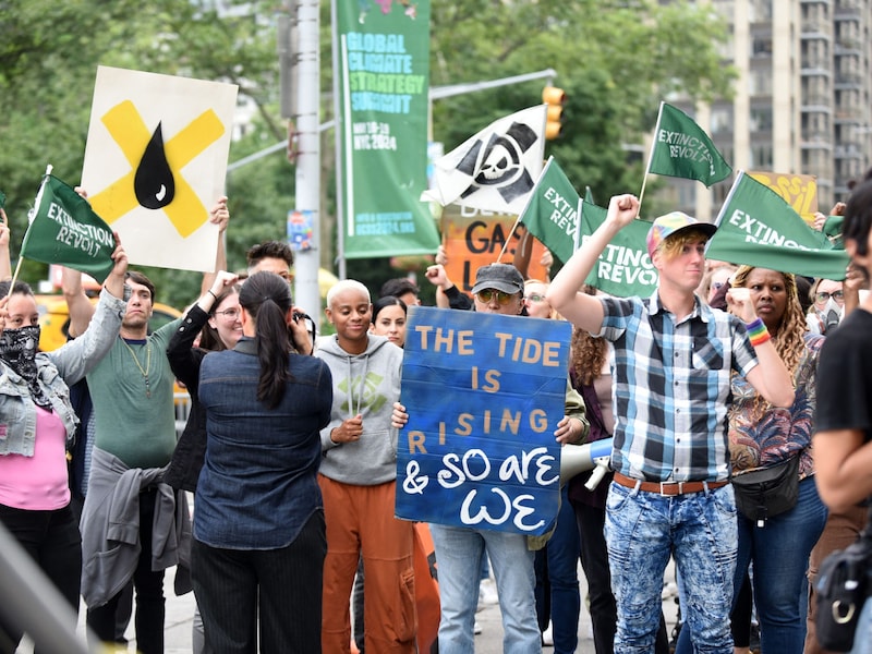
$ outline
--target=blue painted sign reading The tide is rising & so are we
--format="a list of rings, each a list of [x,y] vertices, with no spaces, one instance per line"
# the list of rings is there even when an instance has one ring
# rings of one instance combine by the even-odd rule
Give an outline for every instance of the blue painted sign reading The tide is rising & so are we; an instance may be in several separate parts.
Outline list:
[[[565,320],[409,307],[397,517],[550,530],[570,334]]]

